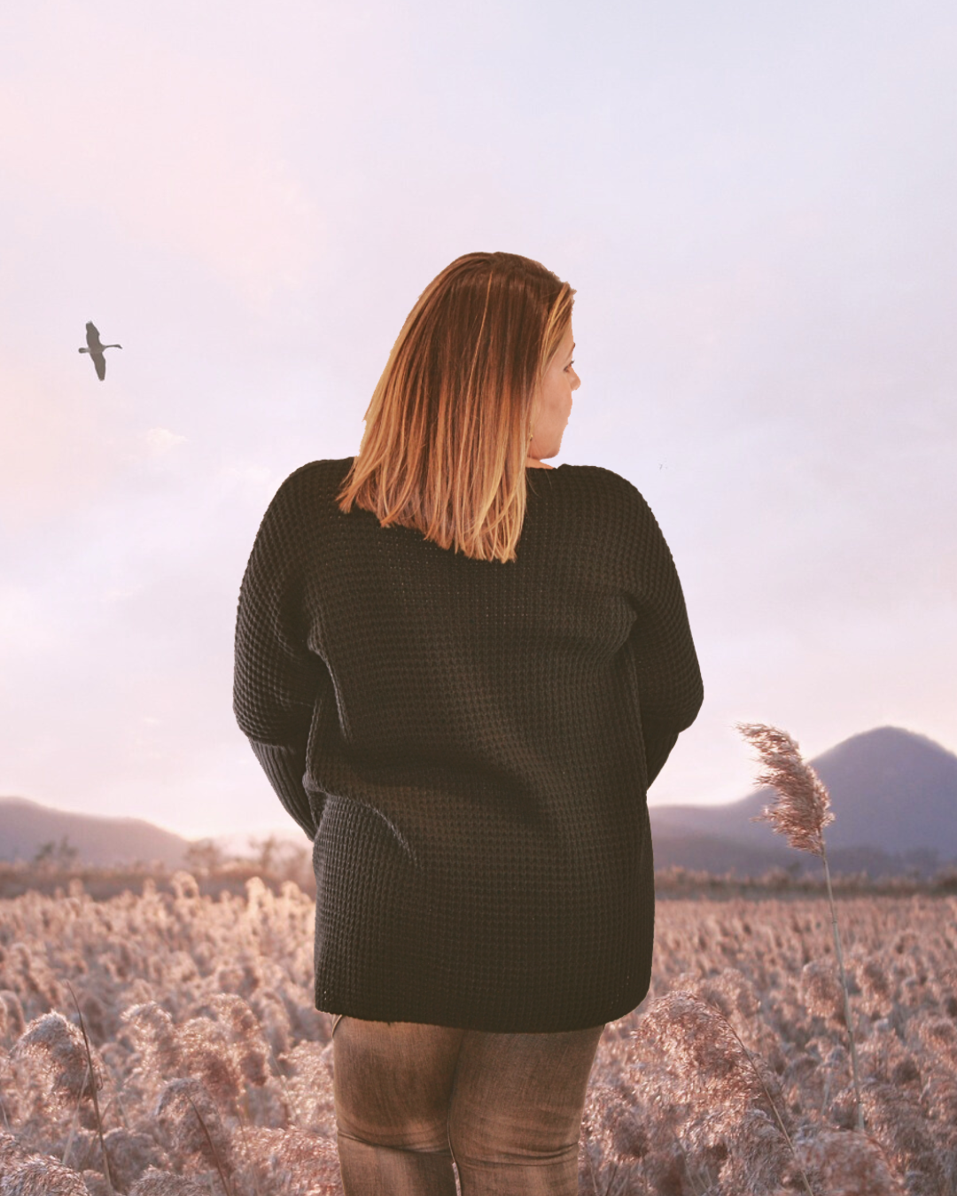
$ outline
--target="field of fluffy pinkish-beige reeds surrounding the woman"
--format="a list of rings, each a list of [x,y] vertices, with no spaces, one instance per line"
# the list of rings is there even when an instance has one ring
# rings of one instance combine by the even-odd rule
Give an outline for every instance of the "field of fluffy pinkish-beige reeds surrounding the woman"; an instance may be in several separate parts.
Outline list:
[[[0,1196],[341,1192],[313,898],[141,890],[0,902]],[[581,1192],[957,1192],[957,897],[835,908],[847,1006],[825,898],[659,899],[652,989],[592,1070]]]

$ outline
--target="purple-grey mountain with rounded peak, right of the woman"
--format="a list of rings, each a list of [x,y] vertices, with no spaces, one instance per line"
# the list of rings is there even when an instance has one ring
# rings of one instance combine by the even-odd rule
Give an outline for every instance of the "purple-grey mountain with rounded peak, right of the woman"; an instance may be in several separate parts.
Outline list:
[[[810,761],[828,787],[834,822],[824,830],[834,871],[922,872],[957,861],[957,756],[913,731],[877,727]],[[787,847],[768,823],[749,819],[774,799],[756,789],[721,806],[648,806],[656,866],[754,874],[773,864],[792,864],[807,853]],[[708,859],[713,864],[685,862]],[[740,867],[724,864],[740,860]],[[750,861],[750,862],[749,862]]]

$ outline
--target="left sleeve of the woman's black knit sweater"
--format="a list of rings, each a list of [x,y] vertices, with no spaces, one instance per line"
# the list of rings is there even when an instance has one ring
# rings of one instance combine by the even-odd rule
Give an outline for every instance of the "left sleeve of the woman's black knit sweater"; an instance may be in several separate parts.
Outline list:
[[[306,646],[299,515],[288,481],[263,517],[239,590],[233,713],[280,801],[313,838],[316,816],[303,777],[325,664]]]

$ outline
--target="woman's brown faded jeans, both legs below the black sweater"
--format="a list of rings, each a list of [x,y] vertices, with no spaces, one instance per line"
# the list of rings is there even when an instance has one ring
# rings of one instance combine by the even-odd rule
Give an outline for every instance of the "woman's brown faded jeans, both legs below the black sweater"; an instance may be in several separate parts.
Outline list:
[[[604,1026],[505,1035],[339,1017],[333,1088],[346,1196],[577,1196]]]

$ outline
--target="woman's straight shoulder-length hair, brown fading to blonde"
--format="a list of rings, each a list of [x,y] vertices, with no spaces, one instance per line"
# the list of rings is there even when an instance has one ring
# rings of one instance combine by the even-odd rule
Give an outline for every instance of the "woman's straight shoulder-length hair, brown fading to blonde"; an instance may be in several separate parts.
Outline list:
[[[538,389],[574,291],[518,254],[465,254],[398,334],[336,495],[475,560],[516,560]]]

